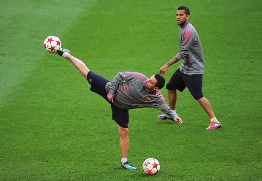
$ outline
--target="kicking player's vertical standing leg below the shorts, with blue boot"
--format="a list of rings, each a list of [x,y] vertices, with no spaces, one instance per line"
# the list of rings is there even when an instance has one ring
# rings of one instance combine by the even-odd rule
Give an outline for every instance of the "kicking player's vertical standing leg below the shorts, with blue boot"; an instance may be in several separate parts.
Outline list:
[[[118,124],[117,127],[120,134],[120,149],[121,149],[121,156],[122,156],[121,167],[130,170],[136,170],[136,167],[132,166],[127,161],[127,155],[129,149],[128,128],[123,128]]]

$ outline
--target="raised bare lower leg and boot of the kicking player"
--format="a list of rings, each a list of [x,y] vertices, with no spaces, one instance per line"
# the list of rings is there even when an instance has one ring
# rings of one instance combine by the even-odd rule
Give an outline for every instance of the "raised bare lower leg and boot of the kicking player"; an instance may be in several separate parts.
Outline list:
[[[90,71],[87,66],[84,64],[84,62],[82,62],[81,60],[79,60],[78,58],[70,55],[70,51],[67,49],[63,49],[60,48],[60,50],[57,51],[57,53],[70,60],[70,62],[79,70],[79,72],[87,79],[87,74]]]

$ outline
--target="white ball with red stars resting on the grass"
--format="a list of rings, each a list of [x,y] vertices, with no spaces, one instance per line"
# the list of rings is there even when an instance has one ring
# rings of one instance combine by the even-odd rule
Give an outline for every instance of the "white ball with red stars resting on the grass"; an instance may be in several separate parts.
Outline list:
[[[157,174],[160,170],[160,163],[155,158],[148,158],[143,163],[143,171],[147,174]]]

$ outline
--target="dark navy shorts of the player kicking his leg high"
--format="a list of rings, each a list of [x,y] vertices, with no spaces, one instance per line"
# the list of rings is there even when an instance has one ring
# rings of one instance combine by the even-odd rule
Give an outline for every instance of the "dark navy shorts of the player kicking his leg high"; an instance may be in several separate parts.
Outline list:
[[[129,110],[121,109],[116,107],[113,103],[108,101],[107,93],[105,90],[105,85],[109,80],[95,74],[94,72],[89,72],[87,74],[87,81],[91,85],[90,90],[102,96],[107,102],[111,104],[112,109],[112,119],[121,127],[128,128],[129,123]]]

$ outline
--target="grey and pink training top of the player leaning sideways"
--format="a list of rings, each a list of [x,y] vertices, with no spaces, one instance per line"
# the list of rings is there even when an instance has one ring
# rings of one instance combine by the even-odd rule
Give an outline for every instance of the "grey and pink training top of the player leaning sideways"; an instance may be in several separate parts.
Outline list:
[[[162,93],[147,92],[145,83],[149,78],[138,72],[119,72],[106,84],[106,92],[114,95],[113,104],[121,109],[157,108],[171,118],[179,117],[166,104]]]

